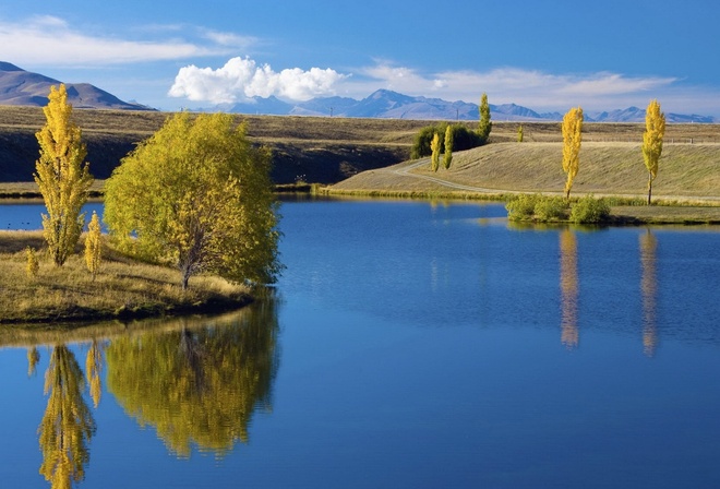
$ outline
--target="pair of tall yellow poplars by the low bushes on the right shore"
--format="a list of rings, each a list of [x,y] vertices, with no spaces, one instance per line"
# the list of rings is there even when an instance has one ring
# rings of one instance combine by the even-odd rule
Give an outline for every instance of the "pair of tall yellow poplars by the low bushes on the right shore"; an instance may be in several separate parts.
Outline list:
[[[583,142],[583,109],[575,107],[563,117],[563,171],[567,175],[565,181],[565,198],[569,199],[573,180],[580,167],[580,144]],[[653,99],[645,112],[645,132],[643,134],[643,159],[648,170],[648,205],[652,200],[652,182],[658,176],[658,163],[662,154],[662,141],[665,134],[665,115],[660,110],[660,104]]]

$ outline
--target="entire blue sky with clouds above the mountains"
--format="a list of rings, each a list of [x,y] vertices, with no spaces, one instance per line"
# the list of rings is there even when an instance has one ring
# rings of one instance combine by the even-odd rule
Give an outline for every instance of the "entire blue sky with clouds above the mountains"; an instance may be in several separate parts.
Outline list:
[[[160,110],[376,90],[720,117],[717,0],[33,0],[0,61]]]

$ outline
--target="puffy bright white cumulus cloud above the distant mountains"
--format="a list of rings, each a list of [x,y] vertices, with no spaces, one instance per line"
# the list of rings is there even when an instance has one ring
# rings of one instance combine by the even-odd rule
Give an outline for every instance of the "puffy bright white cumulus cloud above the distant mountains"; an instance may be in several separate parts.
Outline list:
[[[278,73],[269,64],[257,65],[252,59],[238,57],[217,70],[194,64],[181,68],[168,95],[213,104],[271,95],[307,100],[334,94],[337,83],[347,76],[320,68],[308,71],[292,68]]]

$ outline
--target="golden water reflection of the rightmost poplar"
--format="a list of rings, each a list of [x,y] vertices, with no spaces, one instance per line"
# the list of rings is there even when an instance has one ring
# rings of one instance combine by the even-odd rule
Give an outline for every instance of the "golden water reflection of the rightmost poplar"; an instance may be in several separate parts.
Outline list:
[[[658,347],[658,330],[656,324],[656,298],[658,296],[658,279],[656,272],[657,238],[647,229],[640,235],[640,264],[643,277],[640,290],[643,293],[643,350],[651,357]]]

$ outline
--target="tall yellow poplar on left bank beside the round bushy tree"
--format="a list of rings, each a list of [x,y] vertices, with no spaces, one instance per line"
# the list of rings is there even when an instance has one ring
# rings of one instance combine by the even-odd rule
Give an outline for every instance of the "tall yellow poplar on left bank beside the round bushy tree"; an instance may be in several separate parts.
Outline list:
[[[82,132],[72,120],[72,105],[68,104],[64,85],[52,86],[48,105],[43,108],[47,119],[35,134],[40,145],[40,158],[35,164],[35,182],[40,189],[47,215],[43,214],[43,229],[48,251],[57,266],[72,254],[85,224],[81,214],[93,183],[87,150]]]

